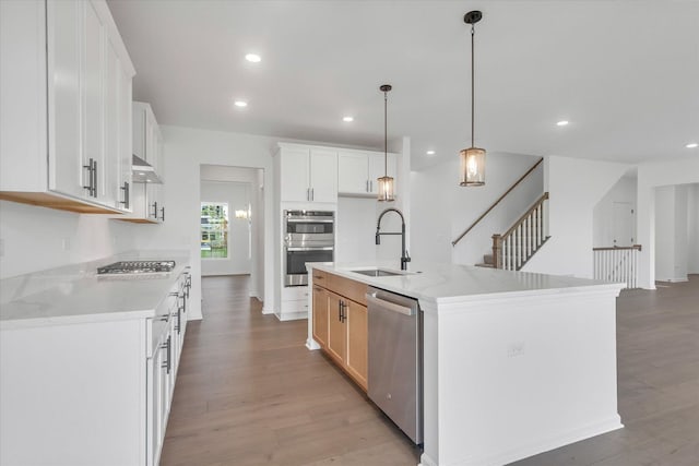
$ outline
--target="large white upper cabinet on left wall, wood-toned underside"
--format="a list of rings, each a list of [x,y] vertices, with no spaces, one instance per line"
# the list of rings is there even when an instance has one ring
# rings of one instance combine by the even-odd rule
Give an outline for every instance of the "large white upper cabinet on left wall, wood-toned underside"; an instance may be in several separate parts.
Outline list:
[[[134,70],[107,3],[1,1],[0,22],[0,199],[129,211]]]

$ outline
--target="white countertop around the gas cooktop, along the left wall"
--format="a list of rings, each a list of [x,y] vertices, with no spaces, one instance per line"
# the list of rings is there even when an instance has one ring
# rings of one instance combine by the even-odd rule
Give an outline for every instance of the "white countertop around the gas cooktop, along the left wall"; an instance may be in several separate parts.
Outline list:
[[[97,267],[125,260],[174,260],[158,276],[98,276]],[[0,280],[0,330],[141,319],[155,315],[179,275],[187,253],[132,252]]]

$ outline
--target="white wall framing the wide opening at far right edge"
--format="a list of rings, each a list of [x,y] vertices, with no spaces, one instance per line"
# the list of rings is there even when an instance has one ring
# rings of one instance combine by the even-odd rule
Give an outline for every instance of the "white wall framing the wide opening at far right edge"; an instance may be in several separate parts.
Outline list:
[[[691,183],[699,183],[699,157],[638,166],[637,229],[639,244],[643,247],[639,258],[642,288],[655,288],[655,188]]]

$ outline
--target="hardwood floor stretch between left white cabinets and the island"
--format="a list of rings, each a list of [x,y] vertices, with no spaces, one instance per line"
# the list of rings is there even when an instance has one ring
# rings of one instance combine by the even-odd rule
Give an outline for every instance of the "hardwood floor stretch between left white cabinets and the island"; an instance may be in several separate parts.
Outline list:
[[[262,315],[248,277],[202,279],[161,465],[416,465],[419,452],[320,351]]]

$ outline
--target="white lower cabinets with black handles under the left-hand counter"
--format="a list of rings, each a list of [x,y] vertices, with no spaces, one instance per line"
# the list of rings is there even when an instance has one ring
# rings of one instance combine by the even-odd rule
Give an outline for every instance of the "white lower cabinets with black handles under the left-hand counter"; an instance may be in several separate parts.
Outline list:
[[[2,328],[0,465],[157,465],[190,283],[154,318]]]

